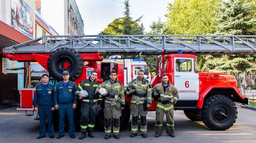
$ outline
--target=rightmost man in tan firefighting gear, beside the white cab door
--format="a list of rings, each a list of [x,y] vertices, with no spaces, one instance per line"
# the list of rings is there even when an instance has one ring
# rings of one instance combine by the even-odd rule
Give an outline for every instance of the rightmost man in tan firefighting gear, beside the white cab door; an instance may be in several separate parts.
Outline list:
[[[177,103],[179,99],[178,90],[170,83],[167,74],[163,74],[162,83],[156,84],[152,90],[156,90],[160,94],[156,109],[155,137],[159,137],[162,134],[164,114],[167,120],[166,133],[171,137],[175,137],[173,104]]]

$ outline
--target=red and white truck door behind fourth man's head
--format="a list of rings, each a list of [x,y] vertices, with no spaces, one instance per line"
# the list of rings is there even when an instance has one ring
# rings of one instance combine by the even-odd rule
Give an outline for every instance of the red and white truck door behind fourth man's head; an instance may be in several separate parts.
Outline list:
[[[123,86],[125,86],[125,84],[124,84],[124,63],[111,61],[110,62],[110,72],[112,70],[116,71],[118,81],[121,81]]]

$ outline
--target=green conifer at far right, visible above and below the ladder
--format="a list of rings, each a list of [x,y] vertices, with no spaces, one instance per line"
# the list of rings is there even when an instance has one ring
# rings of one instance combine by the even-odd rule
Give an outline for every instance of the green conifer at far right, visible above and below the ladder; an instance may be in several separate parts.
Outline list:
[[[255,0],[254,0],[255,1]],[[247,0],[228,0],[217,9],[215,34],[255,35],[255,3]],[[256,70],[255,55],[208,56],[210,71],[231,73],[232,71]]]

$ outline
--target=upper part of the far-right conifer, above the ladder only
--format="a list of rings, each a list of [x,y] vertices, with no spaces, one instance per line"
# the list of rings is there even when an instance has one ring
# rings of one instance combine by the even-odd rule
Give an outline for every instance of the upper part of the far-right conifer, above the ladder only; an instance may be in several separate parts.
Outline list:
[[[217,9],[216,34],[254,35],[256,34],[255,4],[244,0],[223,1]]]

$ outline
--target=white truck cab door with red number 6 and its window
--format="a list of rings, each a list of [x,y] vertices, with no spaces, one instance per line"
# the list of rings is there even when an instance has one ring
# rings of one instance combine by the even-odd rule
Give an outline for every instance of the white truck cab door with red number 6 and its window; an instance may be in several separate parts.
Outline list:
[[[179,100],[198,100],[199,76],[194,71],[193,58],[174,58],[174,85],[179,92]]]

